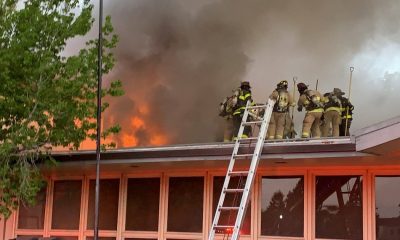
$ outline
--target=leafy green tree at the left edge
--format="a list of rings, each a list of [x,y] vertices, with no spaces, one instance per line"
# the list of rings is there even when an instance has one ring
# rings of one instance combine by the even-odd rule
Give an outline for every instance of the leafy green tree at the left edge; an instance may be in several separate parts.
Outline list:
[[[84,36],[93,6],[79,0],[0,0],[0,213],[33,203],[43,184],[38,163],[53,147],[78,149],[96,137],[97,40],[63,55],[68,39]],[[103,73],[114,66],[117,43],[110,18],[103,26]],[[122,95],[112,81],[102,96]],[[102,110],[108,107],[103,103]],[[102,136],[119,131],[112,126]],[[111,144],[112,145],[112,144]]]

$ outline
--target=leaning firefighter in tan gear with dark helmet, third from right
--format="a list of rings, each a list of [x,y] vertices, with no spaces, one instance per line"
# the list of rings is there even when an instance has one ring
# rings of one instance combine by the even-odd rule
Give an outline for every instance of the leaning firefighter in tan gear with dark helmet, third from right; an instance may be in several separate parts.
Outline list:
[[[321,117],[324,112],[322,96],[318,91],[308,89],[308,86],[304,83],[298,83],[297,90],[300,93],[297,111],[301,112],[303,107],[307,111],[303,120],[301,137],[308,138],[312,134],[313,137],[319,138],[321,136]]]

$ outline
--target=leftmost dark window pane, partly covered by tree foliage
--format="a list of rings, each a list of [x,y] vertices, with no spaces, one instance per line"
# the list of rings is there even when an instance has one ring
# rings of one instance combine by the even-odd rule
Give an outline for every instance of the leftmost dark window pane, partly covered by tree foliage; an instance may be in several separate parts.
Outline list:
[[[43,229],[44,210],[46,205],[46,187],[43,187],[36,196],[34,206],[19,206],[19,229]]]

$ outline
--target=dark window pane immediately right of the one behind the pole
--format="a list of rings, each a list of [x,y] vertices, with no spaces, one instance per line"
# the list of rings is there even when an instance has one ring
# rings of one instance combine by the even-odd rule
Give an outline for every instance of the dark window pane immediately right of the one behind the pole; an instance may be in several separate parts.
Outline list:
[[[159,178],[129,179],[125,229],[158,231],[159,204]]]

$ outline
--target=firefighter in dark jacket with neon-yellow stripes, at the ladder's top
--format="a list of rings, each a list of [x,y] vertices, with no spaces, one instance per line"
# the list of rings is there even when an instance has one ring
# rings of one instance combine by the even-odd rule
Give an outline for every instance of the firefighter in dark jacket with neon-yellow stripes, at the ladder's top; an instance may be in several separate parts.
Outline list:
[[[251,87],[250,83],[247,81],[241,82],[240,84],[240,91],[239,91],[239,96],[237,98],[237,103],[236,106],[234,107],[233,110],[233,136],[234,140],[236,139],[236,136],[238,135],[240,124],[242,122],[244,110],[246,108],[247,101],[250,101],[252,105],[253,99],[251,97]],[[245,126],[242,134],[242,138],[247,138],[250,136],[251,133],[251,127],[250,126]]]

